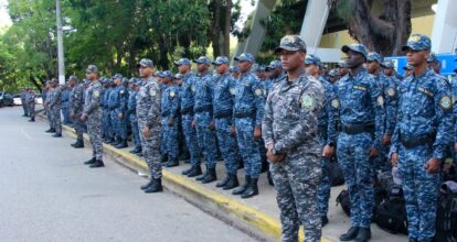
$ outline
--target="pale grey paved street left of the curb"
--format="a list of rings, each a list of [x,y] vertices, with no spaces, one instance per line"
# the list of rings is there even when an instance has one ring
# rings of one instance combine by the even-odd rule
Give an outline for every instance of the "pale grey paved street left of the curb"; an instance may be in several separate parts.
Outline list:
[[[173,194],[145,195],[114,162],[87,168],[88,147],[21,114],[0,109],[1,241],[253,241]]]

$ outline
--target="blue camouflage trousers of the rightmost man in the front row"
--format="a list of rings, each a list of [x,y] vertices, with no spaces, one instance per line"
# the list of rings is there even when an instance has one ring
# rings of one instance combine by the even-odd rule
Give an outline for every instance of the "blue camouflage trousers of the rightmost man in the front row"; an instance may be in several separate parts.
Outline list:
[[[424,168],[432,155],[432,147],[426,146],[410,150],[401,146],[398,153],[408,235],[417,241],[432,241],[435,237],[439,173],[429,174]]]

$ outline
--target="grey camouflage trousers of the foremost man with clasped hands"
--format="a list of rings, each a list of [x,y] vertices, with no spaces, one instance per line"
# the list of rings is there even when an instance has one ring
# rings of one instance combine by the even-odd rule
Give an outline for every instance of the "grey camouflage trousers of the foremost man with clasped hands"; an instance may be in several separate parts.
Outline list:
[[[288,154],[283,162],[269,166],[280,209],[284,242],[298,241],[300,221],[305,228],[305,241],[320,241],[321,221],[317,206],[321,176],[319,161],[319,156],[313,154]]]

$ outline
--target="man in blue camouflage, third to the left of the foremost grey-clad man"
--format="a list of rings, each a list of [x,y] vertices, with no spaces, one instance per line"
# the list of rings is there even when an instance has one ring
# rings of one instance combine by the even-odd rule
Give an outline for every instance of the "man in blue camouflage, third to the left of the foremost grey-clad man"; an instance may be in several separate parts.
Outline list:
[[[213,121],[213,91],[214,80],[208,72],[211,61],[206,56],[201,56],[193,61],[196,63],[198,75],[193,84],[194,91],[194,120],[196,128],[196,139],[201,147],[206,165],[206,172],[196,180],[204,184],[216,180],[215,165],[217,156],[216,135],[214,127],[210,125]]]

